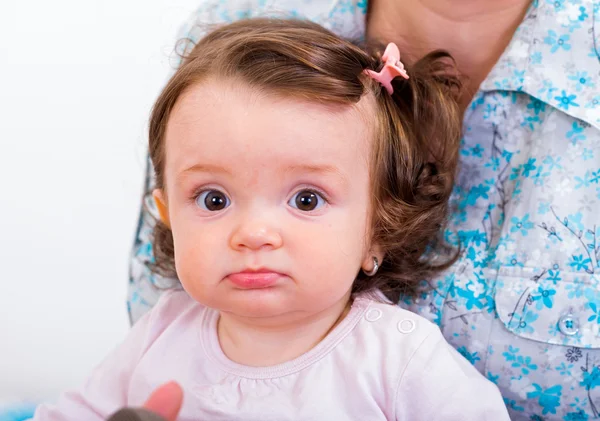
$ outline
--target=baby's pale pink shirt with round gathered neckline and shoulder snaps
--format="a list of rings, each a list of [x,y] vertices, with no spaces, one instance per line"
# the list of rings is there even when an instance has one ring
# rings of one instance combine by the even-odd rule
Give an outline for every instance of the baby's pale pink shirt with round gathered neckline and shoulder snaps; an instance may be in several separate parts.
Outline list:
[[[185,393],[181,421],[509,420],[496,386],[397,306],[358,297],[315,348],[260,368],[224,355],[217,319],[183,291],[164,294],[80,390],[34,420],[104,420],[170,380]]]

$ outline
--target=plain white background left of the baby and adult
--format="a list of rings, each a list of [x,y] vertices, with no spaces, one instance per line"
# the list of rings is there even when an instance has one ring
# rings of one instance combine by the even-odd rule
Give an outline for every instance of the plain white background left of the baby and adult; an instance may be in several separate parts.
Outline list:
[[[0,0],[0,401],[127,333],[147,119],[201,0]]]

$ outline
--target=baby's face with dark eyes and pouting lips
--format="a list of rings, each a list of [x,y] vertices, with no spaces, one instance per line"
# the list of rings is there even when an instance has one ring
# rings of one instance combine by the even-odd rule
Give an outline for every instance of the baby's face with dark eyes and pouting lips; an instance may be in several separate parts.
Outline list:
[[[372,262],[372,135],[361,107],[281,99],[231,81],[204,82],[179,99],[166,131],[166,192],[157,196],[192,297],[253,318],[309,316],[348,297]]]

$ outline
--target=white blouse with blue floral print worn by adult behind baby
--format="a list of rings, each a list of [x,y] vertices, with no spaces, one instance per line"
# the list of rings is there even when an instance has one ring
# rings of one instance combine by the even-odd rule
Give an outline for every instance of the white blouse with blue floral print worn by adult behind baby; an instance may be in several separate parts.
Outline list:
[[[347,38],[366,0],[209,0],[184,25],[304,17]],[[537,0],[464,119],[447,240],[463,253],[400,305],[437,322],[504,396],[513,420],[600,417],[600,0]],[[148,171],[147,187],[151,187]],[[168,280],[150,273],[152,203],[131,261],[137,320]]]

